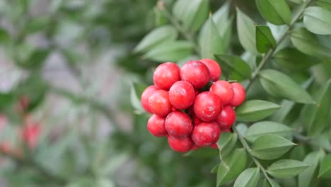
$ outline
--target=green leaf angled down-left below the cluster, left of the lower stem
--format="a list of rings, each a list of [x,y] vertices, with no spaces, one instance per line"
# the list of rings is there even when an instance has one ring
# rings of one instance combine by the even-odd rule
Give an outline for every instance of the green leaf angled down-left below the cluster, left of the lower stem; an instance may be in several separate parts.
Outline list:
[[[217,171],[216,186],[233,181],[245,169],[247,164],[247,153],[245,149],[235,149],[228,157],[219,164]]]

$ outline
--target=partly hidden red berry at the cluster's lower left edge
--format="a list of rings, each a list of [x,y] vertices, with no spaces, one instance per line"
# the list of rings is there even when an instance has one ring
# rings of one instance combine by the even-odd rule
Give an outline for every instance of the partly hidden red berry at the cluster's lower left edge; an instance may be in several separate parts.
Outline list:
[[[168,136],[168,132],[165,130],[165,118],[158,115],[151,115],[149,121],[147,122],[147,129],[153,136],[162,137]]]

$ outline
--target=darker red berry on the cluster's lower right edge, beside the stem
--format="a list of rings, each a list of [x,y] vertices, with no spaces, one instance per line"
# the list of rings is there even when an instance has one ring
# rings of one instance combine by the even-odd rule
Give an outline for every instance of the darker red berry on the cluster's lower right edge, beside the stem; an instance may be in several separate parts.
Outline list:
[[[215,121],[221,130],[227,130],[231,128],[235,120],[236,111],[233,110],[232,106],[224,106],[223,111]]]

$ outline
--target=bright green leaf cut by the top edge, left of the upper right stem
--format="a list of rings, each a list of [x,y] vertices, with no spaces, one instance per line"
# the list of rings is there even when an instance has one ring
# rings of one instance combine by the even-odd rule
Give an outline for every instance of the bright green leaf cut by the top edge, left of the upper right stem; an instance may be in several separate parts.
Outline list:
[[[291,23],[291,10],[285,0],[256,0],[263,18],[274,25]]]

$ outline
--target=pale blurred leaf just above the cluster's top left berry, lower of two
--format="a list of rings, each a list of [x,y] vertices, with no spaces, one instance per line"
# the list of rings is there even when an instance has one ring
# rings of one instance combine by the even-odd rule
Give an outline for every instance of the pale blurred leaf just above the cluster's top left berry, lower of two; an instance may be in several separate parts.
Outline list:
[[[158,45],[143,57],[158,62],[177,62],[192,55],[192,45],[187,41],[173,41]]]

